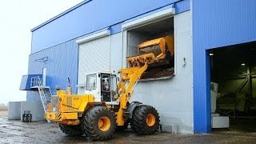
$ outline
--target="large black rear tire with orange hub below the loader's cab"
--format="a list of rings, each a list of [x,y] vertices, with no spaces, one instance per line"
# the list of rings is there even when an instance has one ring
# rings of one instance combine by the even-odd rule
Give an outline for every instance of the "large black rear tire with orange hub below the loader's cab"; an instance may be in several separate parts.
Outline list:
[[[86,111],[82,120],[82,130],[92,140],[112,138],[116,120],[112,111],[103,106],[93,106]]]

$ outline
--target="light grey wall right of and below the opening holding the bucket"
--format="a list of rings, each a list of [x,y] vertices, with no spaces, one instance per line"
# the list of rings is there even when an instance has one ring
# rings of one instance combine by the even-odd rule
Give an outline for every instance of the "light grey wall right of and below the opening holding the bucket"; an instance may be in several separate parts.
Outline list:
[[[191,11],[174,16],[175,76],[138,82],[132,101],[156,107],[164,130],[177,126],[179,133],[193,133],[193,58]],[[186,66],[183,65],[186,58]],[[170,127],[170,129],[168,128]]]

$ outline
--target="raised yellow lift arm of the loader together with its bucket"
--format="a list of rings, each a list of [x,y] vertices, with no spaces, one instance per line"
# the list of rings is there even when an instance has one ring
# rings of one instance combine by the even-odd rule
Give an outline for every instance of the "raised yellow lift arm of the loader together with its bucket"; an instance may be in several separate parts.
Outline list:
[[[174,37],[166,36],[157,38],[138,45],[138,56],[126,58],[130,68],[119,70],[121,80],[118,82],[118,100],[120,107],[117,114],[118,126],[123,126],[125,122],[126,104],[129,102],[134,86],[147,70],[148,66],[160,65],[161,62],[169,64],[169,58],[174,57]],[[166,61],[166,60],[167,61]],[[129,82],[129,83],[128,83]]]

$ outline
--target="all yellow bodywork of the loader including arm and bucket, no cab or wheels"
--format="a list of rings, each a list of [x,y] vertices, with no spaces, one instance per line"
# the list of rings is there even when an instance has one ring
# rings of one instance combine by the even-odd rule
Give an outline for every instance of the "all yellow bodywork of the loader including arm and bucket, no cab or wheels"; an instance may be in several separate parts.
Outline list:
[[[120,80],[116,88],[117,94],[114,96],[119,102],[118,110],[114,111],[118,126],[125,125],[126,104],[133,95],[134,86],[138,79],[141,78],[148,66],[162,62],[166,58],[167,52],[170,52],[171,56],[174,54],[174,38],[171,36],[143,42],[138,45],[138,56],[126,58],[130,68],[118,71]],[[86,110],[92,106],[111,107],[107,106],[105,102],[94,102],[94,95],[91,94],[72,95],[70,92],[58,90],[56,97],[58,101],[55,103],[58,103],[58,106],[54,108],[54,102],[51,102],[45,117],[47,120],[67,125],[79,125],[82,114],[86,113]]]

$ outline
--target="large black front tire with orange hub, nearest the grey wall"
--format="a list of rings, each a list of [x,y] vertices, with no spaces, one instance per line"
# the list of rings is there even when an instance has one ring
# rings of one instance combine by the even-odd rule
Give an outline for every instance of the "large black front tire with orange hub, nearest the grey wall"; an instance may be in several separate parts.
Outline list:
[[[158,111],[153,106],[140,105],[134,110],[131,128],[138,134],[154,134],[159,126]]]

